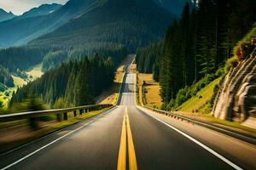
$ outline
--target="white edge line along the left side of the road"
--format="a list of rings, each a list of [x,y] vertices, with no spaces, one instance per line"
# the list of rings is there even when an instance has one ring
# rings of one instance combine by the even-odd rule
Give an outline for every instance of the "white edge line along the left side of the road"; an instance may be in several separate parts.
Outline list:
[[[106,111],[105,114],[104,114],[104,112],[102,112],[102,114],[101,114],[100,116],[96,116],[96,117],[95,117],[94,119],[92,119],[90,122],[87,122],[87,123],[85,123],[83,126],[81,126],[81,127],[79,127],[79,128],[76,128],[75,130],[71,131],[70,133],[67,133],[67,134],[63,135],[63,136],[61,136],[61,137],[58,138],[58,139],[55,139],[54,141],[50,142],[49,144],[45,144],[44,146],[42,146],[42,147],[39,148],[38,150],[35,150],[35,151],[33,151],[32,153],[30,153],[30,154],[28,154],[28,155],[26,155],[26,156],[20,158],[19,160],[13,162],[12,164],[9,164],[8,166],[1,168],[1,170],[6,170],[6,169],[8,169],[9,167],[15,166],[15,165],[16,165],[17,163],[19,163],[20,161],[24,161],[24,160],[26,160],[26,158],[28,158],[28,157],[30,157],[30,156],[32,156],[32,155],[38,153],[38,151],[44,150],[44,149],[47,148],[49,145],[54,144],[55,142],[57,142],[57,141],[59,141],[59,140],[65,138],[65,137],[67,137],[68,135],[79,131],[81,128],[88,126],[90,123],[95,122],[98,118],[102,117],[103,115],[106,115],[106,114],[109,113],[110,111],[112,111],[112,109]]]

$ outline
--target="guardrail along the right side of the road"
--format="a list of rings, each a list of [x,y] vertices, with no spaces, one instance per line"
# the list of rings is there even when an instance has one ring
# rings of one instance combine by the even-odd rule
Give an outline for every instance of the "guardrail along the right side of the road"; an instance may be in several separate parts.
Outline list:
[[[191,118],[186,117],[186,116],[178,115],[177,113],[174,113],[174,112],[161,111],[161,110],[154,109],[154,108],[148,107],[148,106],[143,106],[143,107],[148,109],[148,110],[151,110],[151,111],[154,111],[154,112],[166,115],[166,116],[171,116],[173,118],[180,119],[181,121],[187,121],[187,122],[195,123],[195,124],[200,125],[202,127],[210,128],[212,130],[218,131],[219,133],[227,134],[231,137],[234,137],[236,139],[241,139],[241,140],[243,140],[247,143],[250,143],[250,144],[256,144],[256,138],[254,136],[251,136],[251,135],[236,133],[234,131],[231,131],[230,129],[226,129],[224,127],[218,127],[218,126],[212,125],[211,123],[208,123],[208,122],[197,121],[195,119],[191,119]]]

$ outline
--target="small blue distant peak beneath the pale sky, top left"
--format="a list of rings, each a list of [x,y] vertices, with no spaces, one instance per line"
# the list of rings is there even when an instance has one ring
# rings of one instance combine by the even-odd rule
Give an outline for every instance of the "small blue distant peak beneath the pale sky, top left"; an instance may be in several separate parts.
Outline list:
[[[62,5],[57,4],[57,3],[43,4],[43,5],[39,6],[38,8],[30,9],[26,13],[20,15],[19,18],[25,19],[25,18],[40,16],[40,15],[44,15],[44,14],[50,14],[50,13],[53,13],[56,9],[61,8],[61,7],[62,7]]]

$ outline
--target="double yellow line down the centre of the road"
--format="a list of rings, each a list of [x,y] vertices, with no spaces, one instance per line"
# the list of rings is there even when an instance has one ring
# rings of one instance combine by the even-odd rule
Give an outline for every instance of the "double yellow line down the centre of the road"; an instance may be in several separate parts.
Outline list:
[[[129,164],[126,164],[127,156],[127,145],[128,145],[128,160]],[[121,140],[119,145],[119,158],[117,170],[126,170],[129,167],[129,170],[137,170],[137,160],[134,150],[134,144],[131,135],[131,126],[128,116],[127,106],[125,108],[125,116],[123,119]]]

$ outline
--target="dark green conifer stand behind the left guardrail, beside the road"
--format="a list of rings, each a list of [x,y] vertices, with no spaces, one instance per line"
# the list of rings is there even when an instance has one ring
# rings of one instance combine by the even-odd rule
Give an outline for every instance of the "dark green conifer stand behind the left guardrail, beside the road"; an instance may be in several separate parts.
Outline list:
[[[43,77],[18,88],[10,106],[32,97],[41,99],[49,107],[91,105],[95,97],[113,83],[114,65],[111,58],[94,56],[74,59],[50,69]],[[61,104],[60,104],[61,102]]]

